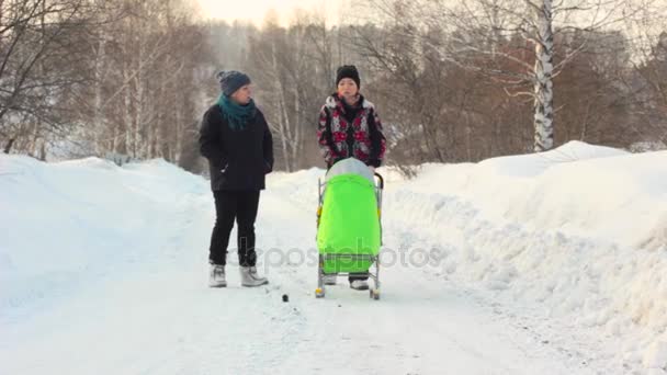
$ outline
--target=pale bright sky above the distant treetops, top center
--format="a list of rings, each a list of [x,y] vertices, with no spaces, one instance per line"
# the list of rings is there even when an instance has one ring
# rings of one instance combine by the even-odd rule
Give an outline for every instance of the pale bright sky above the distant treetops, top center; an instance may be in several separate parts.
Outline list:
[[[197,0],[204,19],[250,21],[261,26],[267,13],[274,10],[282,25],[287,25],[295,10],[327,14],[327,23],[338,23],[343,0]]]

